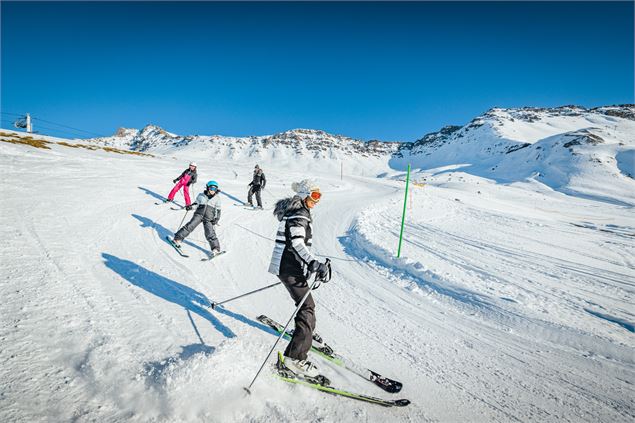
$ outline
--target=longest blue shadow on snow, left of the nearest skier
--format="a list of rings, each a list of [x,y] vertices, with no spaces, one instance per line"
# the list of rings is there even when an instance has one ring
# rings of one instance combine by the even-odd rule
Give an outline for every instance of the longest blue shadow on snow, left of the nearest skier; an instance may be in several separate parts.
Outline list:
[[[166,301],[180,305],[185,310],[196,313],[208,320],[226,338],[235,338],[236,334],[203,308],[210,304],[207,297],[200,292],[182,285],[172,279],[154,273],[143,266],[129,260],[120,259],[111,254],[102,253],[106,267],[117,273],[131,284],[143,288],[151,294]]]

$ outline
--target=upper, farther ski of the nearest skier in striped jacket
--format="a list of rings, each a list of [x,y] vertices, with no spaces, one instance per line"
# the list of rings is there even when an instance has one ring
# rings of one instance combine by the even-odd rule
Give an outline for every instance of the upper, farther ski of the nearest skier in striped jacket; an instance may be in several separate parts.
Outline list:
[[[278,334],[280,334],[282,330],[284,329],[284,326],[282,326],[280,323],[276,322],[275,320],[265,315],[258,316],[257,320],[269,326],[270,328],[278,332]],[[290,331],[288,330],[284,335],[284,337],[287,340],[290,340],[292,336],[293,336],[292,330]],[[324,359],[349,370],[350,372],[358,375],[359,377],[374,383],[375,385],[377,385],[378,387],[380,387],[386,392],[390,392],[394,394],[401,391],[401,388],[403,388],[403,384],[401,382],[384,377],[377,372],[374,372],[372,370],[368,370],[362,366],[359,366],[351,362],[347,358],[337,354],[333,350],[333,348],[327,345],[322,339],[322,337],[318,335],[317,333],[313,334],[313,345],[311,345],[311,351],[323,357]]]

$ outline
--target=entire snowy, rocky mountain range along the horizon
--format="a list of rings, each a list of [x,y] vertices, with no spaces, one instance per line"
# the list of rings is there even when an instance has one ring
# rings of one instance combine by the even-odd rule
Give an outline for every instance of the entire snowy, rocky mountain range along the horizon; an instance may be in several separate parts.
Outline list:
[[[635,204],[635,106],[493,108],[464,126],[446,126],[412,143],[352,139],[313,129],[268,136],[180,136],[157,126],[120,128],[102,145],[184,160],[274,162],[296,171],[394,175],[462,171],[513,183],[537,180],[567,194]],[[303,160],[310,158],[310,161]],[[398,178],[402,176],[398,175]],[[591,186],[595,187],[591,189]]]

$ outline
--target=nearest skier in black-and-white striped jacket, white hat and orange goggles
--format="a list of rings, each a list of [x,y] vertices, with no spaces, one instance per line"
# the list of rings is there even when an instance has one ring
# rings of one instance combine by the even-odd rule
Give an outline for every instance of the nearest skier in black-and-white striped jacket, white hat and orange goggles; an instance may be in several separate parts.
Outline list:
[[[276,203],[273,214],[280,224],[269,272],[277,275],[291,294],[296,306],[309,290],[307,276],[316,273],[323,280],[328,272],[326,263],[315,259],[309,247],[313,237],[311,209],[320,201],[320,188],[304,180],[292,185],[296,195]],[[308,272],[307,272],[308,270]],[[295,317],[295,330],[284,352],[284,363],[292,371],[306,376],[318,375],[317,367],[307,361],[315,329],[315,302],[310,294]]]

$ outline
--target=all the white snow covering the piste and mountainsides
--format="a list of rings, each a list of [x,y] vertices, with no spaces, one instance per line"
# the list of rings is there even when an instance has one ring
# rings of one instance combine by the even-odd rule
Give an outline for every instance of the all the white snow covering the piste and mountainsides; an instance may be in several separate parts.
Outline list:
[[[553,117],[553,133],[516,119],[519,134],[536,135],[518,135],[531,145],[501,146],[496,160],[481,151],[503,139],[491,132],[475,150],[444,144],[453,160],[416,157],[401,258],[404,174],[387,156],[351,155],[345,165],[359,173],[341,180],[335,150],[231,156],[190,141],[151,157],[0,142],[0,421],[632,421],[635,131],[592,116],[609,117],[617,124]],[[470,157],[477,150],[487,163]],[[189,160],[195,192],[208,179],[224,192],[228,253],[211,262],[200,261],[200,228],[184,243],[190,258],[174,252],[164,237],[184,212],[154,204]],[[263,212],[234,205],[256,160]],[[256,316],[284,322],[293,303],[276,287],[208,305],[276,281],[270,209],[307,173],[324,192],[313,250],[334,270],[315,291],[317,331],[404,388],[388,394],[316,362],[336,385],[409,398],[406,408],[289,385],[269,366],[251,396],[242,389],[275,341]]]

